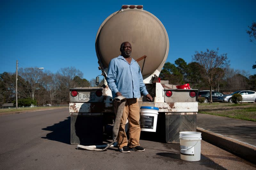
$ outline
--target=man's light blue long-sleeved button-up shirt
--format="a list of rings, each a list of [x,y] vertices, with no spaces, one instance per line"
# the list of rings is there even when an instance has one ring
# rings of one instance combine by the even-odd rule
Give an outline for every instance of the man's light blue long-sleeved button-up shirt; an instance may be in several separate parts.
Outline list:
[[[108,66],[108,87],[112,91],[112,97],[120,92],[126,98],[139,98],[140,92],[148,94],[140,72],[140,66],[132,58],[129,64],[123,56],[113,58]]]

